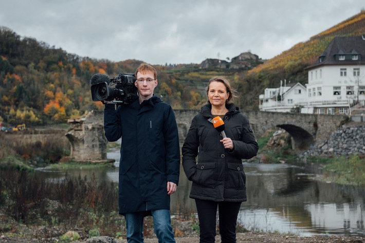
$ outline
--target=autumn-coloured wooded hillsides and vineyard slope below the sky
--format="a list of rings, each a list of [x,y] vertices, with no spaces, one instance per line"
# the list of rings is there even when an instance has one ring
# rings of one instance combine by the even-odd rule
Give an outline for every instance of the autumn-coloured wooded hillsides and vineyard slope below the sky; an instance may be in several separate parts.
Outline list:
[[[305,84],[305,68],[316,61],[335,36],[364,33],[365,11],[362,10],[250,70],[201,68],[199,64],[157,65],[159,85],[155,92],[174,109],[198,109],[206,103],[208,80],[224,76],[238,90],[236,106],[255,110],[258,97],[266,87],[278,87],[284,79]],[[142,62],[80,57],[0,27],[0,122],[63,123],[90,110],[101,110],[102,103],[92,101],[90,78],[96,73],[111,78],[121,72],[133,73]]]

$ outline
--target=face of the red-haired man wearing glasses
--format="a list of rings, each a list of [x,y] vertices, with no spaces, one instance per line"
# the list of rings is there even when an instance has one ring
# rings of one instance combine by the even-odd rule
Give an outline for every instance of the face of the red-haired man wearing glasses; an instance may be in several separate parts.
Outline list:
[[[138,88],[139,99],[147,100],[153,96],[153,91],[157,86],[157,79],[154,78],[153,72],[137,72],[135,85]]]

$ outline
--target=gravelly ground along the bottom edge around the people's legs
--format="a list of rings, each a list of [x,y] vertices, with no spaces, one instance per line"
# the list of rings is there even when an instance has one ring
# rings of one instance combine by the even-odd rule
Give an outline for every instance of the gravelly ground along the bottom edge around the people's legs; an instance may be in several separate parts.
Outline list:
[[[0,242],[1,243],[56,243],[65,242],[60,241],[60,236],[65,232],[60,227],[46,227],[46,226],[26,226],[12,219],[4,219],[5,215],[0,213]],[[172,219],[172,226],[175,232],[176,243],[198,243],[199,235],[191,227],[189,220]],[[9,229],[5,225],[12,225]],[[81,239],[72,241],[75,243],[126,243],[126,239],[116,239],[109,236],[100,236],[94,238],[87,238],[88,234],[82,229],[73,229],[78,232]],[[313,235],[310,237],[295,236],[295,235],[279,235],[271,233],[255,233],[246,232],[237,234],[237,243],[244,242],[267,242],[267,243],[322,243],[322,242],[351,242],[351,243],[365,243],[365,236],[361,237],[344,237],[340,235]],[[150,232],[145,234],[145,243],[158,243],[155,234]],[[219,235],[216,236],[215,242],[221,242]],[[213,243],[213,242],[212,242]]]

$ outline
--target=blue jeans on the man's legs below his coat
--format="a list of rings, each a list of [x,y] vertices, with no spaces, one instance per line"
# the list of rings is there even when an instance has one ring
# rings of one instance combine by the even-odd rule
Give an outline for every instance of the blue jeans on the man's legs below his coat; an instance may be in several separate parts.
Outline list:
[[[143,218],[145,212],[125,214],[127,242],[143,243]],[[170,211],[167,209],[151,210],[153,226],[158,243],[175,243],[171,227]]]

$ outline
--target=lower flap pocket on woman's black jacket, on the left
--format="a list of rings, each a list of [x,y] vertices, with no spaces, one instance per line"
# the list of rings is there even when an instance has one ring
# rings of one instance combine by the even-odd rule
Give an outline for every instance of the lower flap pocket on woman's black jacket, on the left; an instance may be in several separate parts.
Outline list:
[[[206,188],[214,188],[214,168],[215,162],[198,163],[197,170],[191,178],[193,183]]]

